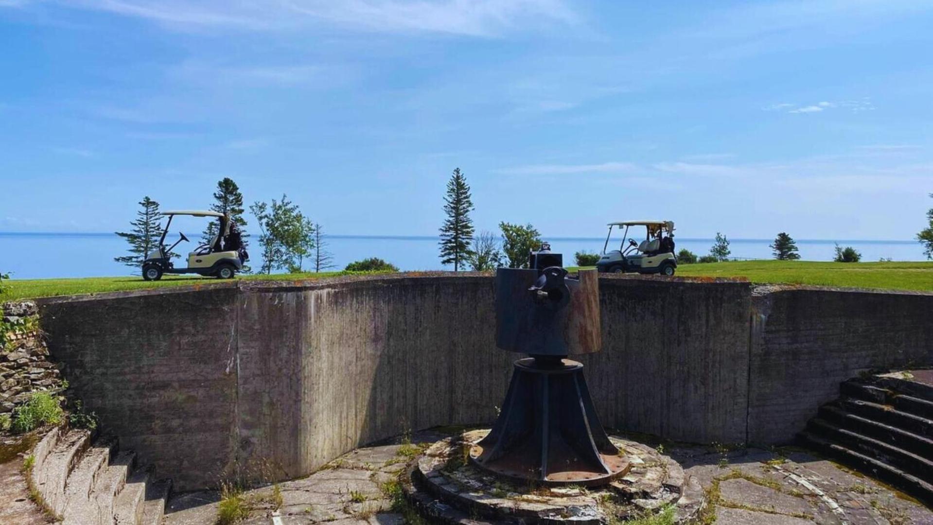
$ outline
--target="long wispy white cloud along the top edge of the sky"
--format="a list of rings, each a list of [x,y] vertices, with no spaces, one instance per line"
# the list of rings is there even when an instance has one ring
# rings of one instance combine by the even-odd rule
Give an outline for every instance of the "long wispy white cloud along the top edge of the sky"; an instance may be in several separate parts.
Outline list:
[[[330,22],[375,32],[486,36],[538,21],[577,21],[564,0],[50,1],[65,7],[107,11],[176,27],[254,31],[300,29]]]

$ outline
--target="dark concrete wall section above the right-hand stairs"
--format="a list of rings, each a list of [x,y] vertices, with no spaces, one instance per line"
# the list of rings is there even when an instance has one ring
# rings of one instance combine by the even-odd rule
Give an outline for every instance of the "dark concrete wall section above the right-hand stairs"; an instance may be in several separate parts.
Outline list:
[[[933,295],[784,289],[755,297],[748,440],[793,439],[839,383],[933,364]]]

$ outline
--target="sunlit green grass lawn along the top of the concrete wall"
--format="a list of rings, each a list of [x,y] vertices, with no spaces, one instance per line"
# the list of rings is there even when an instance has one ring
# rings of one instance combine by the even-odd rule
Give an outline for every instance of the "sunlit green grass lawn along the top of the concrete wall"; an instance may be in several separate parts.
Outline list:
[[[292,281],[347,275],[349,273],[346,271],[280,273],[244,275],[238,277],[238,279]],[[933,262],[741,261],[685,264],[677,267],[676,274],[682,277],[742,277],[752,283],[813,284],[819,286],[933,291]],[[183,276],[165,276],[161,281],[152,282],[143,281],[142,277],[130,276],[12,280],[5,282],[8,290],[0,295],[0,301],[221,282],[213,277]]]

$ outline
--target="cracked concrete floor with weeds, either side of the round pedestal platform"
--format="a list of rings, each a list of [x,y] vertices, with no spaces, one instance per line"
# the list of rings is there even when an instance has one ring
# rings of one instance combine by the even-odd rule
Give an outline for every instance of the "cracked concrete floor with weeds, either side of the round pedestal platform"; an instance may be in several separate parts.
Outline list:
[[[422,432],[414,443],[445,437]],[[704,446],[663,450],[697,477],[708,497],[706,522],[717,524],[933,524],[933,511],[883,484],[802,449],[716,451]],[[411,446],[355,449],[309,477],[279,483],[281,504],[272,487],[244,494],[251,510],[247,524],[404,523],[384,493],[397,477]],[[216,522],[216,491],[175,494],[166,525]]]

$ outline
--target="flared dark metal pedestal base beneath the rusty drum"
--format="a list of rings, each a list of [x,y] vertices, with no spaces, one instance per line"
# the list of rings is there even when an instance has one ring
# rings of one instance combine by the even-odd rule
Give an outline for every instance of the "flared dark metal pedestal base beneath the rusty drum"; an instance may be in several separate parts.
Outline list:
[[[502,412],[470,460],[541,485],[602,485],[629,470],[596,416],[583,365],[559,358],[515,362]]]

